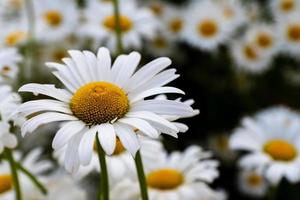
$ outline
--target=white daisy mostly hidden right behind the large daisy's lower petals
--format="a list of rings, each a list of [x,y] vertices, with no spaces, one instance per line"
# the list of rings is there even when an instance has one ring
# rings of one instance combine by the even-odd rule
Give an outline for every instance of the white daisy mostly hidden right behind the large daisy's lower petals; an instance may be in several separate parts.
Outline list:
[[[139,133],[138,133],[139,134]],[[163,149],[159,140],[153,140],[141,135],[138,136],[141,145],[141,153],[145,162],[153,162]],[[87,166],[80,166],[76,173],[77,179],[82,179],[93,171],[100,172],[96,143],[94,144],[91,163]],[[60,164],[64,164],[66,148],[54,152]],[[120,139],[117,139],[116,147],[111,156],[106,158],[107,168],[109,169],[110,184],[120,181],[128,176],[129,170],[134,169],[134,160],[130,152],[126,151]],[[132,173],[132,172],[131,172]]]

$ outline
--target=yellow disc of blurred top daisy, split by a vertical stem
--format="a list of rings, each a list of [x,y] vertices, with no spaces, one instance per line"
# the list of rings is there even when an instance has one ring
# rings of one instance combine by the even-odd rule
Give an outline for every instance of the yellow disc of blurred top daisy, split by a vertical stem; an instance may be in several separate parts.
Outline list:
[[[116,30],[116,18],[114,15],[107,16],[103,20],[103,25],[111,31]],[[127,16],[121,15],[120,16],[120,28],[122,32],[129,31],[133,26],[133,22]]]

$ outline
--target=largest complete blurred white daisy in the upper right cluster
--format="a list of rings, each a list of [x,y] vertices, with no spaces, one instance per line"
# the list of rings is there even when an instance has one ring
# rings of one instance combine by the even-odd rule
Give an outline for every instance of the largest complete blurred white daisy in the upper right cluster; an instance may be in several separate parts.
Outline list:
[[[186,12],[184,39],[203,50],[215,50],[230,33],[220,7],[212,1],[194,2]]]

